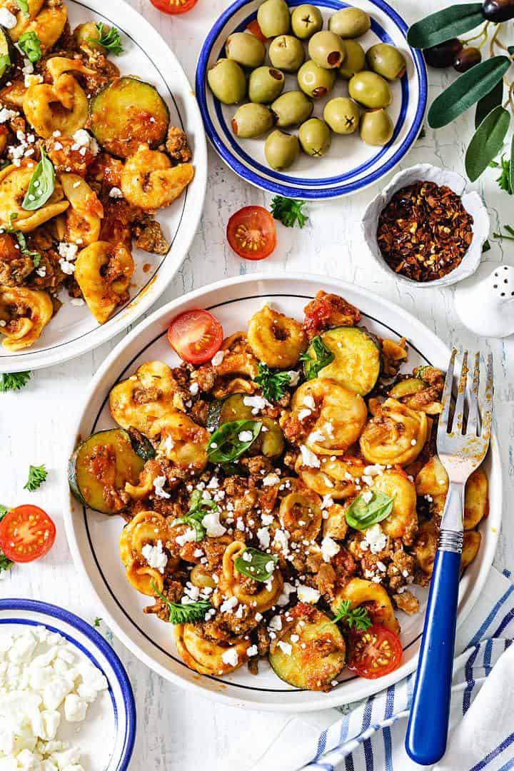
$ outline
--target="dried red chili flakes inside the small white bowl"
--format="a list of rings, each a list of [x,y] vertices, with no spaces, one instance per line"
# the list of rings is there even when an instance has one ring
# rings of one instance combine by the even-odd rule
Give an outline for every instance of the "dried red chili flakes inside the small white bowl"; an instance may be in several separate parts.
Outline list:
[[[377,240],[396,273],[434,281],[454,271],[472,242],[473,217],[461,198],[435,182],[402,187],[382,210]]]

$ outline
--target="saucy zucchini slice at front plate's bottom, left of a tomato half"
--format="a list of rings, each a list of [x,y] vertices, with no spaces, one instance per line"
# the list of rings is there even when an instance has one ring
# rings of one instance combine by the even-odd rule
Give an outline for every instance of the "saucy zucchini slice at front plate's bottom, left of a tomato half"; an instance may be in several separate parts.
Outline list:
[[[337,625],[331,624],[327,614],[305,603],[297,604],[288,615],[293,616],[294,623],[287,622],[287,631],[277,640],[277,643],[285,645],[274,645],[273,652],[269,654],[275,674],[295,688],[308,691],[330,689],[332,680],[341,673],[346,660],[341,631]],[[295,641],[291,640],[291,636]]]

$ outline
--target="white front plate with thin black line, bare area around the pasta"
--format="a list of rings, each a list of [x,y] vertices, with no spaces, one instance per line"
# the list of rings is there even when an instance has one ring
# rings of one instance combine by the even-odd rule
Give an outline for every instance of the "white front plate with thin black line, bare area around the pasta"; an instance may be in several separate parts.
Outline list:
[[[416,318],[391,302],[354,284],[310,274],[257,275],[231,278],[211,284],[170,302],[138,325],[116,346],[96,374],[76,424],[69,438],[69,454],[79,439],[90,433],[113,427],[109,415],[109,391],[116,382],[136,371],[139,365],[161,360],[176,366],[179,359],[166,342],[171,319],[188,308],[207,308],[219,318],[225,335],[247,328],[248,320],[265,301],[295,318],[302,318],[304,305],[323,289],[342,295],[362,311],[362,325],[381,337],[408,340],[407,368],[432,364],[445,369],[448,348]],[[475,561],[462,577],[459,623],[471,610],[485,583],[496,550],[502,511],[502,472],[496,439],[487,460],[490,513],[482,521],[482,544]],[[64,474],[62,475],[64,477]],[[401,667],[378,680],[364,680],[344,672],[341,682],[330,693],[301,691],[282,682],[267,662],[260,662],[259,675],[250,675],[241,667],[223,678],[198,675],[176,653],[173,629],[151,614],[143,614],[149,598],[138,594],[126,581],[118,555],[119,534],[123,520],[86,510],[69,493],[63,479],[64,517],[72,556],[79,571],[96,593],[103,618],[109,619],[114,633],[149,667],[165,678],[186,688],[223,702],[254,709],[304,711],[333,707],[388,687],[415,669],[422,633],[423,613],[407,616],[401,612],[401,642],[404,659]],[[422,602],[427,591],[415,589]]]

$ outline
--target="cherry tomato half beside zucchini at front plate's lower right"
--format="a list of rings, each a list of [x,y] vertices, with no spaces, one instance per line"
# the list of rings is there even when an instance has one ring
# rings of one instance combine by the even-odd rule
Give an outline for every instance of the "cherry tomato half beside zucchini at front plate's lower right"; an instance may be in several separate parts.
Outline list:
[[[403,651],[394,632],[381,624],[352,631],[348,641],[348,669],[368,680],[388,675],[401,664]]]

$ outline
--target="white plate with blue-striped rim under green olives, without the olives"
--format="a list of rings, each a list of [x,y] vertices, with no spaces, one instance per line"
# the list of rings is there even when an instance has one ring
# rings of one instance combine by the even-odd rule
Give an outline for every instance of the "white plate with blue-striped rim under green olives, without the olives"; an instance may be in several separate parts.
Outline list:
[[[303,0],[287,0],[293,8]],[[377,42],[395,45],[404,53],[407,72],[399,82],[391,83],[393,102],[388,113],[395,125],[391,141],[384,147],[371,147],[361,141],[358,132],[351,136],[332,134],[328,153],[321,158],[300,154],[286,171],[270,169],[264,157],[264,138],[240,140],[233,134],[230,120],[236,106],[222,105],[207,86],[207,70],[224,56],[224,45],[232,32],[244,32],[257,18],[262,0],[236,0],[213,25],[203,44],[197,63],[196,89],[205,130],[217,153],[235,173],[270,193],[291,198],[335,198],[356,193],[377,182],[391,171],[411,149],[422,129],[427,102],[427,73],[421,51],[407,44],[407,25],[384,0],[316,0],[324,17],[324,29],[330,16],[340,8],[355,5],[371,16],[371,29],[358,39],[367,50]],[[296,74],[286,75],[284,91],[297,89]],[[334,90],[324,99],[314,100],[313,116],[322,117],[324,104],[334,96],[348,96],[348,84],[338,78]],[[288,130],[294,133],[296,130]]]

